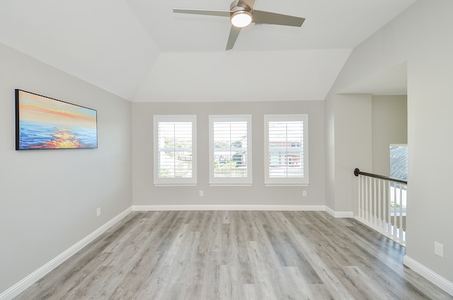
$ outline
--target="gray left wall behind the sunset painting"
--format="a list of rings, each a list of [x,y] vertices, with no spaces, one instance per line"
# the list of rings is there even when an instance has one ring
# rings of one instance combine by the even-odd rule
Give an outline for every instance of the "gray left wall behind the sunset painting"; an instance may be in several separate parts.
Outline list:
[[[0,292],[131,206],[131,104],[0,44]],[[98,111],[98,149],[15,150],[14,89]],[[96,208],[101,207],[101,217]]]

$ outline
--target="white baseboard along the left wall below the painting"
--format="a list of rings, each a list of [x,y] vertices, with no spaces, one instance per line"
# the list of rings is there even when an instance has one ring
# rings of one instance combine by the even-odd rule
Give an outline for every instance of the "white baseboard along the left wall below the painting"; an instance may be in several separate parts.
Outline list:
[[[18,294],[21,294],[21,292],[25,291],[25,289],[28,289],[32,284],[37,282],[39,279],[47,275],[50,271],[54,270],[55,267],[58,267],[61,265],[65,260],[70,258],[72,255],[77,253],[81,248],[84,248],[85,246],[88,245],[88,243],[91,243],[94,241],[95,238],[98,236],[101,236],[102,233],[110,229],[113,225],[117,223],[117,221],[120,221],[122,218],[126,217],[127,214],[132,212],[132,207],[129,207],[125,209],[124,212],[121,212],[118,214],[116,217],[113,217],[113,219],[110,219],[107,223],[103,224],[103,226],[99,227],[92,233],[88,234],[85,238],[81,239],[81,241],[75,243],[73,246],[71,246],[69,249],[65,250],[63,253],[58,255],[57,257],[53,258],[49,262],[47,262],[45,265],[40,267],[38,270],[35,270],[35,272],[31,273],[24,279],[22,279],[20,282],[14,284],[12,287],[9,289],[6,289],[6,291],[2,292],[0,294],[0,300],[11,300]]]

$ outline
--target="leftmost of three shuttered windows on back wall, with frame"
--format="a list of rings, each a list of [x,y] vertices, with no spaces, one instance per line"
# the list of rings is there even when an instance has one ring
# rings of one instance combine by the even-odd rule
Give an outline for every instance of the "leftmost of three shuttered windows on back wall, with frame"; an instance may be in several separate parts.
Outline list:
[[[154,185],[196,185],[196,116],[154,115]]]

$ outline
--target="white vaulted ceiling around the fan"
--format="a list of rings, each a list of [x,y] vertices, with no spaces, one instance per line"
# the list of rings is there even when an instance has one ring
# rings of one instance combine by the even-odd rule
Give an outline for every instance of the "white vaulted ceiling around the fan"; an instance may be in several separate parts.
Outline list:
[[[306,21],[252,24],[225,51],[228,18],[172,9],[230,0],[4,0],[0,42],[132,101],[323,100],[352,49],[415,1],[256,0]]]

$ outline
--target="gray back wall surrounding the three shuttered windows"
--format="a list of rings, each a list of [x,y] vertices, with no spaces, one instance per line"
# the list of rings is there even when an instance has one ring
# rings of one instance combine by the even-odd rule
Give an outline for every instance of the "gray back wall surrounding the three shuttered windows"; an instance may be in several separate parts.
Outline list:
[[[265,114],[309,114],[308,187],[264,186]],[[153,115],[197,115],[196,187],[154,187]],[[253,186],[210,187],[208,116],[252,115]],[[257,204],[325,205],[324,195],[324,103],[323,101],[234,102],[234,103],[133,103],[133,202],[134,205]],[[199,196],[199,190],[204,196]],[[302,197],[302,190],[307,197]]]

